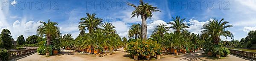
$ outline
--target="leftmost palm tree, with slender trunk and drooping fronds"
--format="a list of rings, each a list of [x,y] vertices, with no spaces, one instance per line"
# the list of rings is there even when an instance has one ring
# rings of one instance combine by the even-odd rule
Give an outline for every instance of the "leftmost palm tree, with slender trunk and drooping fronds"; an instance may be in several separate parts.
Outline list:
[[[60,30],[57,26],[58,23],[51,22],[50,19],[48,20],[48,23],[40,21],[40,23],[43,23],[43,25],[38,26],[37,29],[37,35],[46,36],[47,38],[47,46],[50,45],[50,41],[52,41],[51,37],[53,36],[59,36],[60,35]],[[46,49],[48,52],[48,50]],[[48,52],[49,53],[49,52]]]

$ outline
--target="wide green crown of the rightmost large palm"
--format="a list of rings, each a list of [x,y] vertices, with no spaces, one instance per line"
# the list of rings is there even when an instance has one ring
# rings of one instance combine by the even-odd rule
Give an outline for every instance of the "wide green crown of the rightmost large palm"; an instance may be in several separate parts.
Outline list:
[[[221,41],[220,36],[233,39],[233,34],[230,31],[225,30],[226,28],[232,27],[232,25],[226,25],[229,22],[222,22],[223,20],[224,18],[220,21],[213,18],[212,20],[209,20],[209,23],[204,24],[202,28],[203,30],[201,31],[203,38],[211,37],[215,44],[218,44],[218,42]]]

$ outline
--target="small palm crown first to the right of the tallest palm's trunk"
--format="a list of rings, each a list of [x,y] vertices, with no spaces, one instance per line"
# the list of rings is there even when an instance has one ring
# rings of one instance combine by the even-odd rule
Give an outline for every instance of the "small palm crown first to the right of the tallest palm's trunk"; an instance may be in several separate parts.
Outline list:
[[[169,30],[169,27],[166,24],[160,23],[160,25],[158,25],[153,33],[159,34],[160,36],[163,36],[164,33],[166,33]]]

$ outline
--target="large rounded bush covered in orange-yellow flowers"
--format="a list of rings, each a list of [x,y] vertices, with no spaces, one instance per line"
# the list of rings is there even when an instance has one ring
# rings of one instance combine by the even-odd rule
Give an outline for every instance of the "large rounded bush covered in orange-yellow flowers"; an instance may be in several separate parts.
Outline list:
[[[140,39],[137,39],[137,41],[128,43],[125,50],[129,54],[137,56],[154,56],[161,54],[160,45],[157,44],[157,41],[152,40],[141,41]]]

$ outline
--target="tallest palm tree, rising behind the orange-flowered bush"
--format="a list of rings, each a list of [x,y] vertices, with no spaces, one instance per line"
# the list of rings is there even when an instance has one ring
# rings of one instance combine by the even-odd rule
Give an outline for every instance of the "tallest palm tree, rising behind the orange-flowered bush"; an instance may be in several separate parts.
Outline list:
[[[131,13],[131,17],[139,17],[141,16],[142,18],[142,39],[143,40],[147,40],[147,22],[146,20],[149,18],[151,19],[153,13],[152,12],[161,12],[160,10],[157,10],[157,7],[154,7],[152,5],[149,5],[148,3],[144,3],[143,0],[140,0],[140,5],[139,6],[135,6],[134,4],[131,3],[127,3],[129,6],[132,6],[135,8],[135,10]]]

